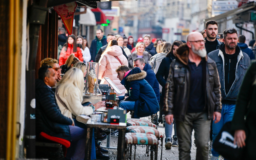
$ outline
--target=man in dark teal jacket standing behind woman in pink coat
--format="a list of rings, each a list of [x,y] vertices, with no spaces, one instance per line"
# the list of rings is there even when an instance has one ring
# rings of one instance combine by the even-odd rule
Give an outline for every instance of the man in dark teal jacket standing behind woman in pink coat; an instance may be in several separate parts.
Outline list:
[[[96,30],[96,36],[95,39],[92,40],[92,44],[90,47],[90,53],[91,53],[91,60],[95,62],[95,57],[98,51],[100,50],[100,47],[107,44],[107,38],[104,36],[104,32],[102,29]]]

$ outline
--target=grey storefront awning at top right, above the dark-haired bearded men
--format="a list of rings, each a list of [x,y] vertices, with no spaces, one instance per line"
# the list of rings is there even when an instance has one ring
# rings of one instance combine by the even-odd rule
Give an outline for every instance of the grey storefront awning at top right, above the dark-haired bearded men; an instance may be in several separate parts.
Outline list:
[[[209,20],[216,20],[217,22],[231,20],[231,19],[236,18],[236,15],[244,13],[248,10],[253,9],[253,8],[255,8],[255,2],[249,2],[247,4],[242,5],[239,8],[236,8],[236,9],[232,10],[232,11],[228,11],[226,13],[223,13],[223,14],[217,15],[215,17],[206,19],[205,22],[207,22]]]

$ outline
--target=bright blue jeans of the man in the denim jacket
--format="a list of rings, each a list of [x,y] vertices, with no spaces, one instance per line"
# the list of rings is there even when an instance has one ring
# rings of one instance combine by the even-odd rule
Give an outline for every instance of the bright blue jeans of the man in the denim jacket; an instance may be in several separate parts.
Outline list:
[[[223,104],[222,103],[220,122],[218,122],[216,124],[214,123],[214,121],[212,122],[212,141],[214,141],[216,139],[216,136],[219,134],[223,125],[227,122],[232,121],[235,109],[236,109],[235,104]],[[216,157],[220,156],[220,154],[218,152],[216,152],[214,150],[214,148],[212,148],[212,155],[216,156]]]

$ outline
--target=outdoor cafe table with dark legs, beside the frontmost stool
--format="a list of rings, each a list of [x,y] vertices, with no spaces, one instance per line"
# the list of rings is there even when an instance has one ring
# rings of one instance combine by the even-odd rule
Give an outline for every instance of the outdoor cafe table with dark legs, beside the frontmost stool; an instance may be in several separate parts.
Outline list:
[[[118,129],[118,142],[117,142],[117,160],[124,160],[125,158],[125,129],[126,123],[119,124],[110,124],[110,123],[101,123],[101,122],[92,122],[90,118],[87,123],[87,136],[85,146],[89,146],[89,148],[85,151],[85,160],[91,160],[91,150],[92,150],[92,129],[93,128],[110,128],[110,129]]]

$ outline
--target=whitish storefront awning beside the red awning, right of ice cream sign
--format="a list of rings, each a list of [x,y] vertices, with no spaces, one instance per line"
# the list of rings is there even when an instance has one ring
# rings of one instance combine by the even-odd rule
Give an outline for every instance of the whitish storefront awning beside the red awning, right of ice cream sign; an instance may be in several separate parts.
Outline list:
[[[87,8],[86,13],[80,14],[79,24],[84,24],[86,26],[96,26],[96,19],[94,13]]]

